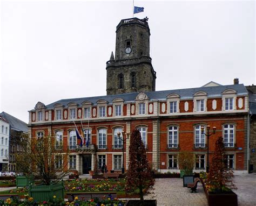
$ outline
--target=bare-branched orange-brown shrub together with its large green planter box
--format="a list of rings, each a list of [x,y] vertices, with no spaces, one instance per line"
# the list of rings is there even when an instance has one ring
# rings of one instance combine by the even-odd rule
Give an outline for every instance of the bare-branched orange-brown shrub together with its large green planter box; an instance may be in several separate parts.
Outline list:
[[[30,184],[29,195],[35,201],[51,200],[53,196],[64,198],[64,184],[60,182],[68,174],[68,149],[56,147],[51,136],[26,139],[23,158],[33,162],[31,171],[42,184]],[[23,164],[17,161],[16,165]]]

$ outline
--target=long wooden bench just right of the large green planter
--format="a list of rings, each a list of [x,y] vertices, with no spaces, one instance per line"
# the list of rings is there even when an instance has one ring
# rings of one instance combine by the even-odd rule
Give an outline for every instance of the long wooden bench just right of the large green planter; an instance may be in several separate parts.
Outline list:
[[[75,200],[75,197],[78,197],[78,200],[91,200],[93,198],[98,198],[99,200],[103,200],[104,197],[112,197],[117,198],[117,193],[66,193],[68,196],[68,200],[70,202]]]

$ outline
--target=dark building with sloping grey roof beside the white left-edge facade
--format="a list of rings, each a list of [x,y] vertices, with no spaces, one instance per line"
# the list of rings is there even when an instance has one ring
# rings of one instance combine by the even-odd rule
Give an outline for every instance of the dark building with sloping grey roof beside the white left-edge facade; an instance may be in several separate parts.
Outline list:
[[[8,120],[10,124],[9,129],[9,140],[7,145],[7,159],[9,159],[8,171],[16,172],[16,155],[22,155],[24,152],[24,147],[22,141],[24,136],[28,136],[28,126],[22,120],[17,119],[14,116],[9,115],[6,112],[0,113],[4,119]]]

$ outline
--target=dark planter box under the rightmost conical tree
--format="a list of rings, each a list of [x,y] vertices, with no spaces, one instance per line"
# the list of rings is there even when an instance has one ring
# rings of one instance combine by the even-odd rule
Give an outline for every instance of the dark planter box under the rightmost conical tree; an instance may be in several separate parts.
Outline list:
[[[208,200],[208,206],[238,206],[237,194],[233,191],[225,191],[223,193],[217,193],[214,191],[208,191],[203,183],[205,195]]]

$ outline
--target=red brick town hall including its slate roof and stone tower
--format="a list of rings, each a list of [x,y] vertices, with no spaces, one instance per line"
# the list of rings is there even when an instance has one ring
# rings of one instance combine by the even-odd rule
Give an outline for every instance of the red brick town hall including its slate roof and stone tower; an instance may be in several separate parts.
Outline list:
[[[158,70],[158,72],[161,72]],[[207,146],[211,158],[215,140],[223,137],[226,166],[236,173],[248,171],[248,92],[238,79],[222,86],[209,82],[202,87],[155,91],[156,72],[150,58],[147,19],[123,19],[116,27],[116,51],[106,62],[106,96],[67,98],[49,105],[38,102],[29,111],[31,138],[51,136],[56,147],[69,148],[70,170],[86,174],[106,164],[121,171],[129,163],[130,138],[122,131],[138,129],[152,168],[180,172],[178,155],[191,152],[194,172],[205,171]],[[82,125],[83,128],[82,128]],[[89,146],[80,146],[76,127]],[[207,138],[202,127],[216,127]],[[206,131],[205,131],[206,133]],[[60,160],[60,164],[63,164]]]

